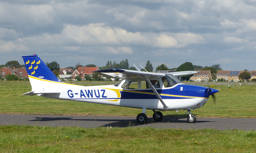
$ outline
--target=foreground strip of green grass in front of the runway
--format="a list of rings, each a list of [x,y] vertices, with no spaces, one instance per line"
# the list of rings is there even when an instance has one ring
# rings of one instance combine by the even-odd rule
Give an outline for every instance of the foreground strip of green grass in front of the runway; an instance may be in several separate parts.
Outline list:
[[[5,153],[211,153],[256,151],[256,131],[0,126]]]

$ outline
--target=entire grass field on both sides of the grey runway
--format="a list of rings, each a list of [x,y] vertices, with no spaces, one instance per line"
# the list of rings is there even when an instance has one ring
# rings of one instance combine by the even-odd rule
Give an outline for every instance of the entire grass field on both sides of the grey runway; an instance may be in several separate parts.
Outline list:
[[[113,82],[72,82],[84,86]],[[199,84],[200,85],[200,84]],[[208,86],[208,84],[205,84]],[[256,84],[210,84],[220,90],[217,104],[212,98],[197,117],[255,118]],[[31,91],[26,81],[0,82],[1,114],[70,114],[94,116],[137,116],[142,110],[22,96]],[[152,114],[151,110],[147,110]],[[183,110],[163,112],[183,116]],[[256,152],[256,131],[216,129],[78,128],[0,125],[0,152],[3,153],[212,153]]]

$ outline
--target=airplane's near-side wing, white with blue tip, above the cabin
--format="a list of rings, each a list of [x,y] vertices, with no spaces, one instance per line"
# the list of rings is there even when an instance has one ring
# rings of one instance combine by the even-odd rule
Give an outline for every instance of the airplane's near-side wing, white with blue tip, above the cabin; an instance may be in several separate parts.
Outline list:
[[[163,73],[154,73],[154,72],[144,72],[144,71],[134,71],[134,70],[125,70],[125,69],[107,69],[100,71],[93,71],[98,75],[104,75],[111,78],[162,78],[165,77]]]

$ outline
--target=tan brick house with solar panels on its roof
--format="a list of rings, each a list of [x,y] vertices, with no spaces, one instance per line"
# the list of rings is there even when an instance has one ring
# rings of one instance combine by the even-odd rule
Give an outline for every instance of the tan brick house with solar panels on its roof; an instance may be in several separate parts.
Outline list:
[[[217,80],[223,79],[223,80],[238,82],[240,73],[242,73],[242,71],[218,71]]]

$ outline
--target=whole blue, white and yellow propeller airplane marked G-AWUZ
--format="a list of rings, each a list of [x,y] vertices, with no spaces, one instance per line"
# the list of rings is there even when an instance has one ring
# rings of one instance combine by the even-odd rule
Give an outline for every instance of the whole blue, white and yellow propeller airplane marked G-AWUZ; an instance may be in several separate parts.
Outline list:
[[[195,123],[196,116],[191,110],[198,109],[207,102],[210,95],[219,90],[205,86],[183,84],[180,76],[198,73],[182,71],[154,73],[125,69],[94,71],[98,75],[123,80],[113,85],[80,86],[60,81],[38,55],[22,56],[32,91],[22,95],[42,96],[62,100],[89,102],[142,109],[136,120],[146,124],[146,110],[152,110],[153,120],[160,122],[160,111],[187,110],[188,123]],[[178,77],[178,78],[177,78]]]

